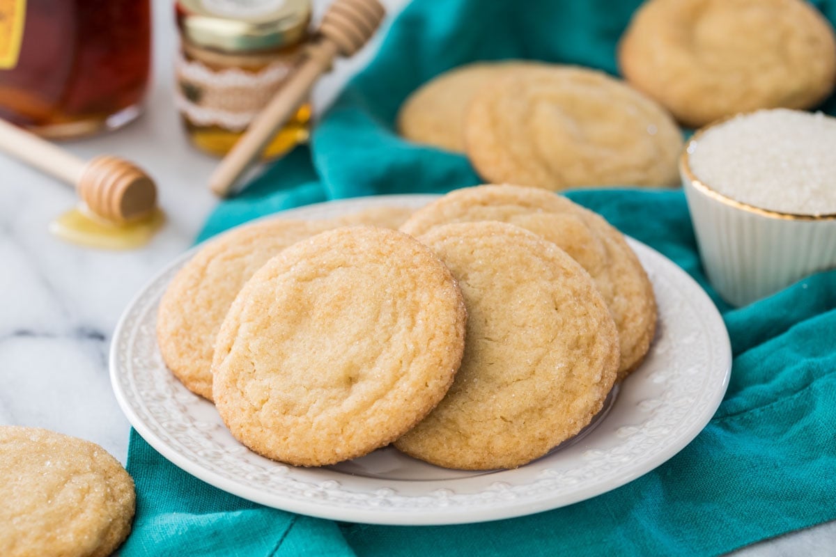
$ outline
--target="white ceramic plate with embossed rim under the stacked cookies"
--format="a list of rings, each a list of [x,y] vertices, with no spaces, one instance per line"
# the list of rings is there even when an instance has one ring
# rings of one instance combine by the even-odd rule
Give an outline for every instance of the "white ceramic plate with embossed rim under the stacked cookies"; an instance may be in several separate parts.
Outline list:
[[[419,207],[431,195],[392,195],[309,205],[283,213],[328,218],[372,205]],[[726,392],[731,347],[721,316],[673,262],[630,245],[653,281],[658,332],[640,369],[578,437],[515,470],[436,468],[383,448],[327,468],[295,468],[252,453],[214,406],[166,369],[155,341],[156,310],[186,252],[140,291],[110,352],[122,410],[152,447],[203,481],[278,509],[370,524],[461,524],[572,504],[638,478],[686,446]]]

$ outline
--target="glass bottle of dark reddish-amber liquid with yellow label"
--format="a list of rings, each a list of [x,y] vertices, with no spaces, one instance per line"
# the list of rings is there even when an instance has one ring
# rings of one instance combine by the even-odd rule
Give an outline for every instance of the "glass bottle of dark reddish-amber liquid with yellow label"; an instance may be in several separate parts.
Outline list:
[[[150,0],[0,0],[0,118],[52,138],[140,114]]]

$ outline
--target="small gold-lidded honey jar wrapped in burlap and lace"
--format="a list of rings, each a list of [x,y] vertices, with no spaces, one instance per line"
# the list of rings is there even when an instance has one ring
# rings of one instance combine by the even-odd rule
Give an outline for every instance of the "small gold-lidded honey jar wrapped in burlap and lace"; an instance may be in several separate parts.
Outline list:
[[[222,156],[232,149],[298,62],[310,0],[178,0],[181,49],[176,104],[192,143]],[[281,156],[308,139],[303,104],[264,149]]]

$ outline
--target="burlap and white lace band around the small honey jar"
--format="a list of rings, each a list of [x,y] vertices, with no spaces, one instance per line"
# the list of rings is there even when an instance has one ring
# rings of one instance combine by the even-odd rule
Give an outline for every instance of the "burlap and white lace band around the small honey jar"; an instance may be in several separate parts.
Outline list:
[[[256,73],[213,70],[181,56],[176,62],[177,108],[192,124],[242,131],[273,99],[291,68],[293,59],[288,58]]]

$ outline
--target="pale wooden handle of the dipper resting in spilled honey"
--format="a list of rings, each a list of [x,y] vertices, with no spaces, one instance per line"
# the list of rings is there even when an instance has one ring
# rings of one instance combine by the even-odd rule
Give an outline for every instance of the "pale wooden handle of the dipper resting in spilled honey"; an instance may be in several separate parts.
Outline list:
[[[76,185],[84,171],[84,160],[2,119],[0,150],[69,185]]]

